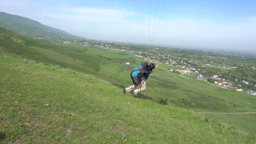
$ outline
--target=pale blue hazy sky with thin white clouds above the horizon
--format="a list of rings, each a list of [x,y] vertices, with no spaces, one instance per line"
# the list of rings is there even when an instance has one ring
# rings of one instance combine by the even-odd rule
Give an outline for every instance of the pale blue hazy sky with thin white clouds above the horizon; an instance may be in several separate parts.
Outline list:
[[[0,12],[89,39],[256,49],[256,0],[1,0]]]

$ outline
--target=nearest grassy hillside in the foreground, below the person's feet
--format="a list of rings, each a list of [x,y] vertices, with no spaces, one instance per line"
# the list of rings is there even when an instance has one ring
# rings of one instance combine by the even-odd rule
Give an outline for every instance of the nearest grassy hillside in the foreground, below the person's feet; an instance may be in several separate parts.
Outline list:
[[[122,94],[80,72],[0,56],[1,143],[255,144],[256,135]]]

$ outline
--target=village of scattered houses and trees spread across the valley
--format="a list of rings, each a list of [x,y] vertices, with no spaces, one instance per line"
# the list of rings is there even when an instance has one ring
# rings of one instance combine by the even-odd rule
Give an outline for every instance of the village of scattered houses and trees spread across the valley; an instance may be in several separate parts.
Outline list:
[[[238,92],[247,93],[250,95],[256,95],[256,81],[247,82],[241,79],[240,77],[236,78],[236,75],[227,76],[227,72],[233,69],[236,71],[238,69],[237,66],[227,65],[223,61],[218,64],[214,60],[206,60],[200,59],[202,54],[196,54],[197,60],[193,60],[193,57],[187,56],[186,58],[183,55],[171,55],[167,50],[168,48],[164,47],[142,47],[141,45],[132,45],[127,43],[117,43],[117,42],[101,42],[101,41],[79,41],[79,40],[65,40],[63,43],[66,44],[80,44],[83,47],[94,47],[94,48],[102,48],[109,50],[122,51],[126,53],[134,54],[136,57],[143,58],[150,62],[155,62],[158,64],[167,64],[172,67],[177,67],[179,69],[170,69],[170,72],[180,72],[180,74],[189,74],[194,75],[196,80],[207,80],[212,84],[219,85],[223,88],[229,88],[232,90],[236,90]],[[182,48],[176,48],[176,51],[183,51]],[[204,51],[204,55],[209,55],[206,51]],[[216,52],[215,55],[223,56],[223,57],[237,57],[235,54],[225,54]],[[194,56],[195,57],[195,56]],[[241,56],[244,57],[244,56]],[[131,65],[130,62],[126,64]],[[256,70],[255,67],[251,67],[252,70]],[[220,73],[219,75],[217,73]],[[229,78],[229,79],[226,79]],[[244,78],[244,77],[243,77]],[[249,86],[247,86],[249,85]],[[249,87],[249,88],[248,88]]]

